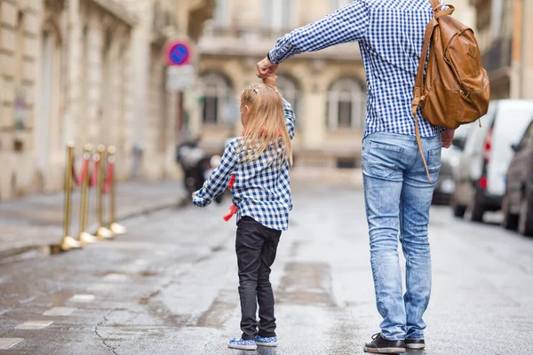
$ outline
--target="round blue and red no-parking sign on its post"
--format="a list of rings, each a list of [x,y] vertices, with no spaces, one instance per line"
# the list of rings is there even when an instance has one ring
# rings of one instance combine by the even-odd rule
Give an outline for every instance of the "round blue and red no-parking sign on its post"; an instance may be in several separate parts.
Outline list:
[[[183,126],[183,91],[193,84],[195,68],[191,63],[191,45],[185,40],[172,41],[165,47],[165,60],[168,64],[166,88],[178,94],[178,114],[176,117],[176,142],[178,143]]]

